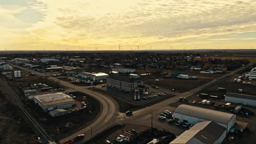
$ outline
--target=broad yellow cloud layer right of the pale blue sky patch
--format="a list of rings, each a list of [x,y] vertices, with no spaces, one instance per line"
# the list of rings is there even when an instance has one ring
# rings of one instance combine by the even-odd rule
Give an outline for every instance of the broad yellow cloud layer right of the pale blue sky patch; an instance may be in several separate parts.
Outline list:
[[[234,39],[210,37],[256,31],[253,0],[37,0],[30,7],[43,17],[26,31],[43,43],[57,45],[161,47],[189,38],[197,39],[190,44],[228,43]]]

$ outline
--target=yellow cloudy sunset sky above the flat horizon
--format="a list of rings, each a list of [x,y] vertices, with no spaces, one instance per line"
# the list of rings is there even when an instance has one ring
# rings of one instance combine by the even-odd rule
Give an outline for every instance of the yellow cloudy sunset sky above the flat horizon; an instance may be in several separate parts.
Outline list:
[[[255,0],[0,0],[0,50],[256,49]]]

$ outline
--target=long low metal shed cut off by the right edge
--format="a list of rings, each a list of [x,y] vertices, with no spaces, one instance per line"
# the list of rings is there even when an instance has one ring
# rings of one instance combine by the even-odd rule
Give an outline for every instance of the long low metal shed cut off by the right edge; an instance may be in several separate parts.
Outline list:
[[[254,95],[226,93],[225,101],[236,104],[246,103],[247,105],[256,106],[256,96]]]

